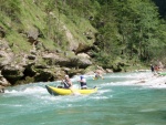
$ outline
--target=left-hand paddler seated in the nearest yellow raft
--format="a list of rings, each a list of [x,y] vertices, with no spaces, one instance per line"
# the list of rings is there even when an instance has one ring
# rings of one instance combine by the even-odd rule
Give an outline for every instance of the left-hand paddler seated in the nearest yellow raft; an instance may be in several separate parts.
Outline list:
[[[69,77],[69,75],[64,76],[64,80],[62,80],[61,84],[64,85],[64,88],[71,88],[73,83],[71,81],[71,79]]]

